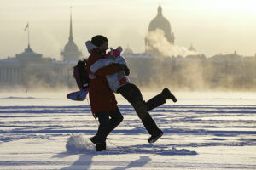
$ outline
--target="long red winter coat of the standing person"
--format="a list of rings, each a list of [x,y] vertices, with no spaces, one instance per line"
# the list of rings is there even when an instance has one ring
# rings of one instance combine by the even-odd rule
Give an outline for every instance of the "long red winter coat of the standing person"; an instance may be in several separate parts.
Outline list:
[[[99,48],[92,49],[87,59],[87,71],[91,72],[90,65],[93,65],[98,59],[104,59],[104,57],[100,54]],[[113,91],[108,87],[106,80],[107,75],[112,75],[117,71],[118,68],[115,64],[108,65],[96,71],[96,77],[90,80],[89,98],[93,116],[97,111],[114,111],[118,108]]]

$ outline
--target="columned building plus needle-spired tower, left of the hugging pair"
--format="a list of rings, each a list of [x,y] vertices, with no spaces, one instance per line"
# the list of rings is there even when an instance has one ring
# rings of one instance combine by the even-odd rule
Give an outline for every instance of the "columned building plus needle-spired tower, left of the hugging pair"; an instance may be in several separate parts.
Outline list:
[[[63,61],[44,58],[35,53],[28,42],[27,48],[15,58],[0,59],[0,84],[3,86],[22,85],[24,87],[63,85],[73,86],[72,67],[81,56],[73,42],[72,16],[68,42],[61,52]],[[3,87],[2,86],[2,87]]]

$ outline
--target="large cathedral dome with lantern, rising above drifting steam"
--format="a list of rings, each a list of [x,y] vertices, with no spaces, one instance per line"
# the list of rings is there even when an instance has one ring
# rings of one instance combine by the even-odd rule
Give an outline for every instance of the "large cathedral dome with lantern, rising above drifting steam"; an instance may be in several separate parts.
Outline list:
[[[160,30],[163,30],[166,33],[166,35],[170,34],[171,25],[169,21],[162,15],[162,8],[159,6],[157,11],[158,11],[158,14],[149,23],[148,31],[154,31],[156,29],[160,29]]]

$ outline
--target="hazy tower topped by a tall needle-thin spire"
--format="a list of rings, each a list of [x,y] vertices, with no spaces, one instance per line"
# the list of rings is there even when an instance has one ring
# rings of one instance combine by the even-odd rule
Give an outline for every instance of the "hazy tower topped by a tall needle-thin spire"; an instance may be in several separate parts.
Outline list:
[[[69,28],[69,37],[68,42],[64,47],[64,50],[61,51],[64,61],[78,61],[79,57],[82,55],[82,52],[79,51],[78,46],[73,42],[73,29],[72,29],[72,14],[70,12],[70,28]]]

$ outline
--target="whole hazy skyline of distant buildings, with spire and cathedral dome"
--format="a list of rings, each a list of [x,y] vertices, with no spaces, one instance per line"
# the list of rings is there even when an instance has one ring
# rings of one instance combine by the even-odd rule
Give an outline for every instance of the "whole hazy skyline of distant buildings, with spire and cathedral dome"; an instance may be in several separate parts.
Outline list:
[[[174,44],[174,36],[168,20],[158,7],[157,16],[150,22],[148,33],[160,29],[166,40]],[[256,54],[243,57],[236,53],[218,54],[206,58],[203,54],[159,58],[160,52],[145,38],[145,54],[134,54],[129,46],[124,53],[131,71],[129,78],[138,86],[168,87],[180,89],[233,88],[256,89]],[[189,51],[196,51],[191,46]],[[82,53],[73,42],[72,14],[70,14],[69,38],[61,61],[44,58],[34,52],[28,43],[27,48],[14,58],[0,59],[0,87],[13,88],[14,85],[31,87],[74,87],[73,65]]]

